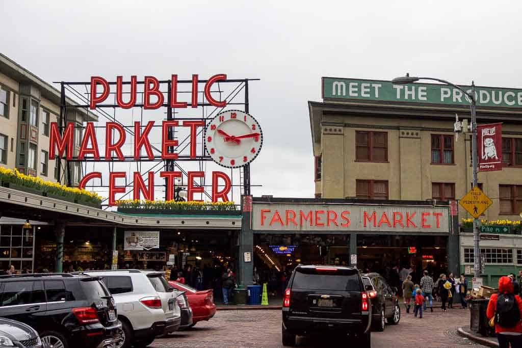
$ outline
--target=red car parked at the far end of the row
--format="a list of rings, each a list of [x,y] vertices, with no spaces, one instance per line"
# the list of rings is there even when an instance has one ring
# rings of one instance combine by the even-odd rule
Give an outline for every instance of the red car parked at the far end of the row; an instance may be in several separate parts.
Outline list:
[[[174,286],[177,290],[185,291],[185,295],[188,299],[188,304],[192,308],[191,327],[196,325],[196,322],[208,320],[216,314],[216,304],[214,303],[213,290],[197,291],[192,286],[188,286],[174,281],[169,281],[169,284]]]

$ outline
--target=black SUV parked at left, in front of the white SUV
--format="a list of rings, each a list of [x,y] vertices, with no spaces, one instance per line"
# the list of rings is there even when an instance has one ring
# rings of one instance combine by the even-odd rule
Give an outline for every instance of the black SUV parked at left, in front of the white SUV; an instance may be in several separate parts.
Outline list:
[[[0,277],[0,316],[26,323],[51,347],[106,347],[122,340],[114,300],[98,277],[67,273]]]

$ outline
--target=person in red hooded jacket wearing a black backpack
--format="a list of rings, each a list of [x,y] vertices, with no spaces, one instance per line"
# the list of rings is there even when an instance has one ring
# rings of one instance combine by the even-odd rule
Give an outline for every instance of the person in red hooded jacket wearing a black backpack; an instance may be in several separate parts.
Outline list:
[[[499,279],[499,292],[492,294],[486,311],[488,319],[494,318],[496,339],[500,348],[522,346],[522,299],[513,293],[513,281],[509,277]]]

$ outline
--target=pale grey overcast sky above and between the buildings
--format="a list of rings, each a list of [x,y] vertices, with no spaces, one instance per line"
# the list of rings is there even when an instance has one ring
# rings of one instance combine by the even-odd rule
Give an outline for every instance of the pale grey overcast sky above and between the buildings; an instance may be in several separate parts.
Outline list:
[[[74,4],[74,5],[73,5]],[[260,78],[255,195],[313,197],[307,101],[321,77],[522,87],[522,2],[2,1],[0,52],[46,81]]]

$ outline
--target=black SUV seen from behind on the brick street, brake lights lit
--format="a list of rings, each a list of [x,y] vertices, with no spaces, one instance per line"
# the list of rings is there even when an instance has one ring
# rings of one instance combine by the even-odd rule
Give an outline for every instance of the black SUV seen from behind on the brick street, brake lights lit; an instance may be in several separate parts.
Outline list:
[[[370,347],[371,302],[357,268],[297,266],[283,297],[282,343],[296,335],[349,334]]]

